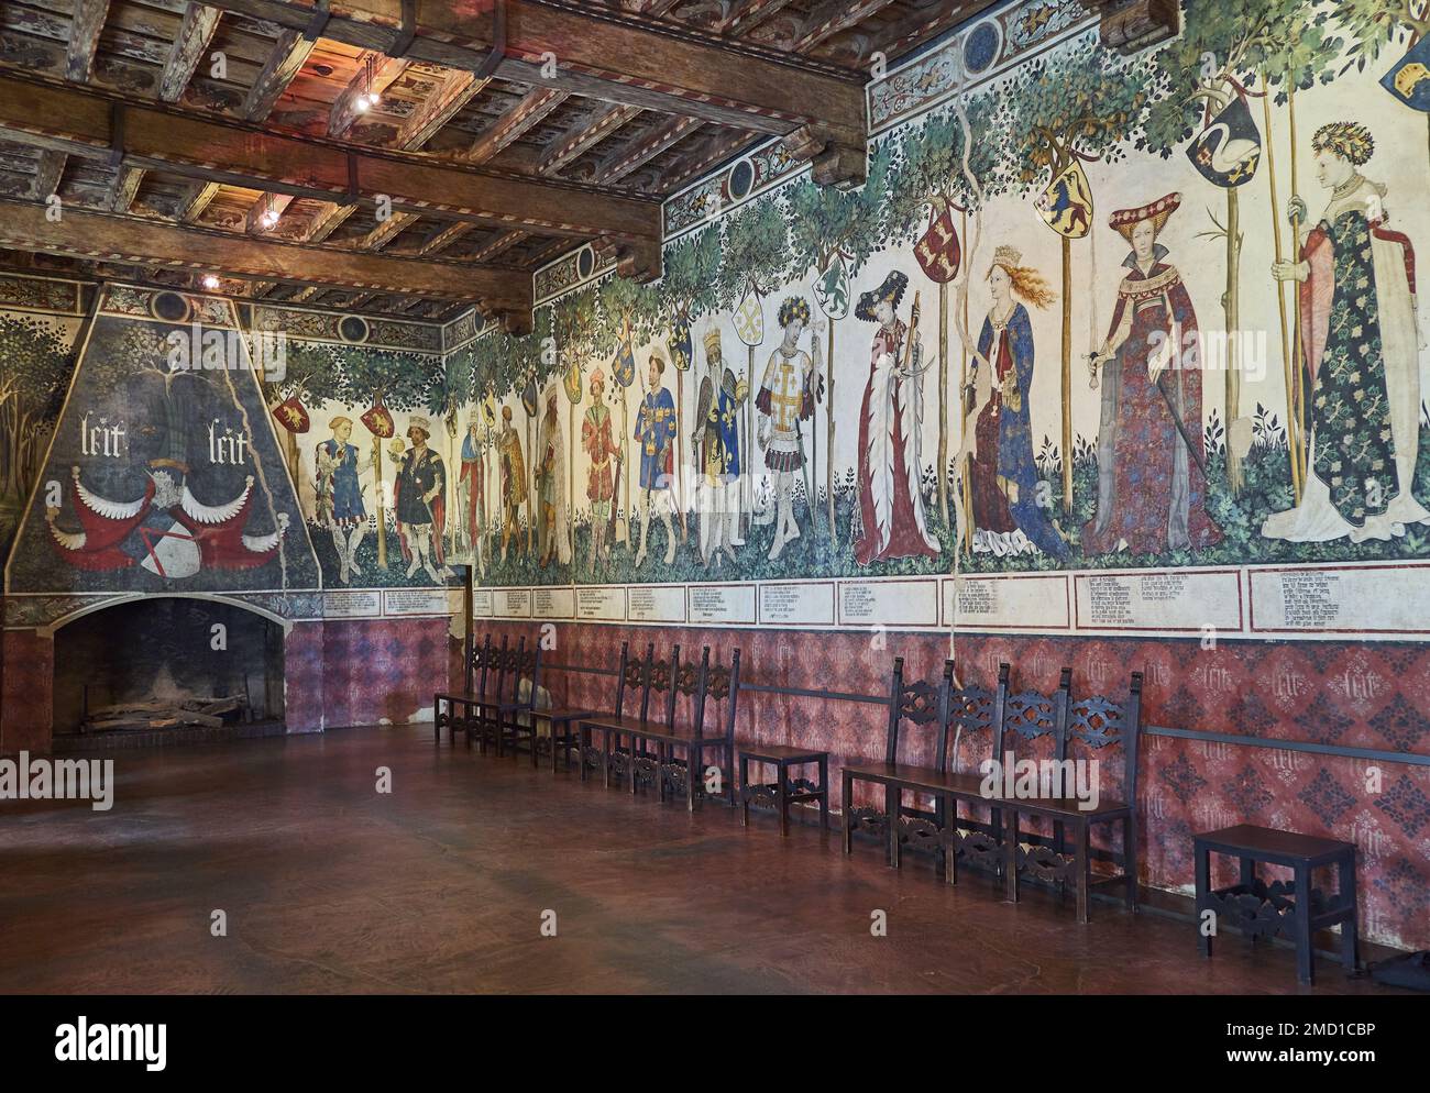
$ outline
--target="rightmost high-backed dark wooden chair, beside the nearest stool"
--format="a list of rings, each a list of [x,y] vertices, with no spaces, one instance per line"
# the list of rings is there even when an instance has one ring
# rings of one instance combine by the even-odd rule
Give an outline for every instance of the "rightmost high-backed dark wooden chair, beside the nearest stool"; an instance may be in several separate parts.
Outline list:
[[[1018,899],[1020,873],[1038,880],[1051,882],[1060,887],[1071,884],[1077,890],[1077,920],[1088,917],[1088,897],[1098,884],[1120,883],[1128,910],[1137,910],[1137,737],[1141,727],[1143,673],[1134,672],[1130,694],[1125,703],[1105,697],[1070,699],[1071,669],[1062,670],[1062,683],[1052,704],[1051,714],[1040,707],[1021,707],[1017,696],[1008,700],[1010,722],[1005,724],[1005,746],[1008,739],[1024,742],[1052,734],[1054,754],[1064,784],[1048,786],[1040,782],[1040,794],[1034,797],[1004,797],[1001,806],[1008,816],[1004,833],[1004,882],[1008,899]],[[1041,696],[1038,696],[1041,699]],[[1098,794],[1095,807],[1090,802],[1070,796],[1065,786],[1070,753],[1072,760],[1097,760],[1108,747],[1123,749],[1123,793],[1121,799]],[[1084,754],[1077,754],[1084,753]],[[1017,756],[1014,754],[1014,759]],[[1098,772],[1098,767],[1093,767]],[[1052,836],[1030,836],[1020,840],[1018,819],[1035,816],[1051,822]],[[1121,827],[1121,850],[1094,850],[1090,833],[1095,827]],[[1068,847],[1071,836],[1071,847]],[[1120,873],[1094,877],[1091,862],[1110,860]]]

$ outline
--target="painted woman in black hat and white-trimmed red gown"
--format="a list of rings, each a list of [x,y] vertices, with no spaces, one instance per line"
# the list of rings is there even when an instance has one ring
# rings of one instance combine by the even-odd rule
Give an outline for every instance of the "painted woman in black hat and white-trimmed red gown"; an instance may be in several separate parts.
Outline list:
[[[915,329],[898,319],[908,276],[898,270],[884,284],[859,296],[854,310],[878,323],[869,349],[869,381],[859,410],[859,500],[854,559],[861,566],[899,557],[938,557],[938,539],[928,530],[919,489],[924,463],[924,346]],[[909,320],[917,326],[915,301]]]

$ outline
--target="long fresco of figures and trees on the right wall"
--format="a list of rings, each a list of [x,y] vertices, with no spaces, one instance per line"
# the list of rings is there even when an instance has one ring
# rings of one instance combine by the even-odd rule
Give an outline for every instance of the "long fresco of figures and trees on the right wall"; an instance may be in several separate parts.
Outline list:
[[[1068,7],[875,89],[864,189],[745,160],[661,283],[478,341],[493,436],[566,460],[516,513],[555,553],[496,476],[486,583],[1424,559],[1419,16],[1195,4],[1123,59]]]

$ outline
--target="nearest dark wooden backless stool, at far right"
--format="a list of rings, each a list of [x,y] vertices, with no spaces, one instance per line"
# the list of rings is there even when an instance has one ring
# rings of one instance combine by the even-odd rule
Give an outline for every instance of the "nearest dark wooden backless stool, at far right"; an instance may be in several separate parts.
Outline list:
[[[1211,887],[1211,854],[1233,854],[1241,860],[1241,883]],[[1197,922],[1210,910],[1217,923],[1234,926],[1254,944],[1257,937],[1290,936],[1296,942],[1296,977],[1313,980],[1311,934],[1341,924],[1341,964],[1356,974],[1356,847],[1334,839],[1238,824],[1195,836]],[[1256,874],[1256,863],[1267,862],[1293,870],[1291,883],[1267,884]],[[1336,866],[1336,896],[1311,887],[1311,870]],[[1201,934],[1201,953],[1211,956],[1211,937]]]

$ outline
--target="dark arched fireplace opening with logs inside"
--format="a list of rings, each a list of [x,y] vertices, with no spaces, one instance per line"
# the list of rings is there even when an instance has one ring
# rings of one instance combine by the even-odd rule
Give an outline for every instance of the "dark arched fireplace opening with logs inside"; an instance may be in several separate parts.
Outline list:
[[[54,634],[54,736],[249,734],[283,722],[283,627],[230,603],[146,597]]]

